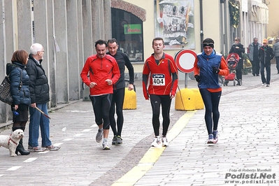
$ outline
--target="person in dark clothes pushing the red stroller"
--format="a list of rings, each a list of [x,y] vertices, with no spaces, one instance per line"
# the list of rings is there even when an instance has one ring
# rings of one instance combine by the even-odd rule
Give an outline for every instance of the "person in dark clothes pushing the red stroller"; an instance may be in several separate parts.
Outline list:
[[[243,69],[242,53],[244,52],[245,50],[243,48],[243,45],[241,44],[241,39],[234,38],[234,44],[231,46],[231,50],[229,50],[229,54],[236,53],[239,56],[239,61],[236,66],[236,79],[238,80],[238,83],[236,85],[242,85],[242,69]]]

